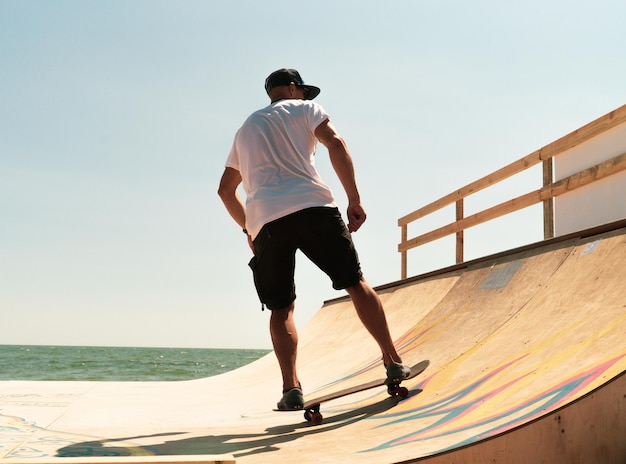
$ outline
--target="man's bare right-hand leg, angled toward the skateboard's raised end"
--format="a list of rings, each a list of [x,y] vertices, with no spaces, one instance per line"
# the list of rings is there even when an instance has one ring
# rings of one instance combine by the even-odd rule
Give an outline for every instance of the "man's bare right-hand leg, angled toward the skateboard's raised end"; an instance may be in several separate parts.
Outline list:
[[[352,298],[352,303],[361,322],[363,322],[365,328],[374,337],[378,346],[380,346],[383,354],[383,363],[385,365],[392,362],[402,363],[402,359],[398,355],[389,333],[389,326],[382,302],[374,289],[365,279],[361,279],[358,284],[347,288],[346,291]]]

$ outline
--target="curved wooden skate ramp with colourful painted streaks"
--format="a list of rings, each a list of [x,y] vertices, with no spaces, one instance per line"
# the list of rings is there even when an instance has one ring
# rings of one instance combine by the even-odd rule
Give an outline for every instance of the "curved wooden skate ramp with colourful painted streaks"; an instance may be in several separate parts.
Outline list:
[[[626,462],[626,229],[583,235],[378,289],[405,362],[430,360],[405,400],[272,412],[272,354],[186,382],[0,382],[0,464]],[[383,372],[346,299],[300,335],[309,395]]]

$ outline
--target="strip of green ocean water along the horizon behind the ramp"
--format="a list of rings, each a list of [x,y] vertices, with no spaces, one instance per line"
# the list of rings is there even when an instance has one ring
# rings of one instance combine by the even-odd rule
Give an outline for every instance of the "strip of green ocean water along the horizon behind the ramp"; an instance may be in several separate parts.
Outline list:
[[[0,345],[0,380],[171,381],[211,377],[269,350]]]

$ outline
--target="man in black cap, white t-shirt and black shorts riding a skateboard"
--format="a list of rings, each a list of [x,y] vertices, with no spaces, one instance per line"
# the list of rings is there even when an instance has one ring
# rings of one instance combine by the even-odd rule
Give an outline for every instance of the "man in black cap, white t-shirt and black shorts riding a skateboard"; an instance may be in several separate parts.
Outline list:
[[[366,215],[356,185],[352,157],[324,109],[312,101],[320,89],[304,84],[295,69],[279,69],[265,81],[269,106],[254,112],[237,131],[218,194],[243,229],[261,303],[271,310],[270,334],[283,377],[279,409],[303,407],[296,371],[298,334],[293,318],[295,253],[301,250],[345,289],[364,326],[382,352],[390,381],[410,369],[396,352],[381,301],[362,276],[350,233]],[[348,198],[348,225],[332,192],[314,165],[317,141]],[[243,183],[245,205],[237,191]]]

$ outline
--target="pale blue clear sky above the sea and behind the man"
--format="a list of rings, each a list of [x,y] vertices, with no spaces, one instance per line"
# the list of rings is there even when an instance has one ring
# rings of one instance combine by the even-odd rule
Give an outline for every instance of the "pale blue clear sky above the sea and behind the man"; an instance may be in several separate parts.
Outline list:
[[[623,0],[0,1],[0,344],[270,347],[216,194],[270,72],[322,88],[376,286],[400,277],[399,217],[626,103],[625,20]],[[318,167],[345,210],[323,147]],[[541,238],[530,208],[468,231],[467,258]],[[442,240],[409,274],[453,259]],[[297,289],[301,327],[342,295],[302,256]]]

